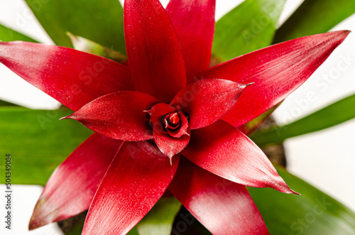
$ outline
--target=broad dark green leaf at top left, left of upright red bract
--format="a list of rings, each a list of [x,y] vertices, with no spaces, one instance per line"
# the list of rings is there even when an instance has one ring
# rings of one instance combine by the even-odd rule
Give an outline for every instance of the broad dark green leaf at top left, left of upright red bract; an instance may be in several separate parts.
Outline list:
[[[123,9],[118,0],[26,0],[35,17],[57,45],[71,47],[69,31],[126,53]]]

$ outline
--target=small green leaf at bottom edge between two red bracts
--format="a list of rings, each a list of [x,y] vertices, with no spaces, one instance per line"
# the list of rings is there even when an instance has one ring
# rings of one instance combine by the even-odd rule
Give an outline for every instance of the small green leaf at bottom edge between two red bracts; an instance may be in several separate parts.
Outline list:
[[[170,235],[181,204],[175,197],[161,198],[136,226],[139,235]]]

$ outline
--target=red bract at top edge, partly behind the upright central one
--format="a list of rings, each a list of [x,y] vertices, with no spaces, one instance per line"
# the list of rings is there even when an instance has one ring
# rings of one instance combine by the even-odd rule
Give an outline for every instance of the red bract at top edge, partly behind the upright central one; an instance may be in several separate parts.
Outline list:
[[[211,60],[215,0],[170,0],[166,11],[180,40],[187,84]]]

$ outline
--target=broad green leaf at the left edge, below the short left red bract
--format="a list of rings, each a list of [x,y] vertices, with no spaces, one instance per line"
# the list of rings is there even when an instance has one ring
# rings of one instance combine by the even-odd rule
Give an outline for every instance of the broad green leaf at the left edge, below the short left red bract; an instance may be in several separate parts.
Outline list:
[[[91,131],[75,121],[59,121],[70,110],[33,110],[0,107],[1,154],[11,154],[11,182],[45,185],[62,163]],[[0,163],[4,175],[5,162]],[[5,177],[0,178],[0,183]]]

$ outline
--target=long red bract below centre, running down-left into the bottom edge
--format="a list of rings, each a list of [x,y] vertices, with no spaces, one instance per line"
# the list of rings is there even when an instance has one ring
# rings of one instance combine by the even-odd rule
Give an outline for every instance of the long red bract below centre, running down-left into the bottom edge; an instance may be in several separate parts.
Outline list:
[[[163,195],[178,168],[148,142],[125,142],[92,201],[82,235],[126,234]]]

